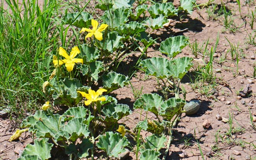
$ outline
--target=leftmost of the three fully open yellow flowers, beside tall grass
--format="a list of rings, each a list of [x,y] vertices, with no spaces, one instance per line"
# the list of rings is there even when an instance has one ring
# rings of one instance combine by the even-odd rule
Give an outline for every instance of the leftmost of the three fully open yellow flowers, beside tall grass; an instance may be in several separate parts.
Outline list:
[[[60,47],[59,48],[59,55],[65,57],[65,59],[63,60],[57,60],[57,57],[54,55],[53,56],[53,64],[56,65],[62,65],[65,63],[65,66],[68,70],[68,72],[71,72],[74,68],[75,63],[82,63],[83,64],[83,59],[79,59],[79,58],[75,58],[76,55],[78,55],[80,53],[80,50],[78,49],[77,46],[73,47],[71,52],[70,52],[70,56],[67,55],[67,52]]]

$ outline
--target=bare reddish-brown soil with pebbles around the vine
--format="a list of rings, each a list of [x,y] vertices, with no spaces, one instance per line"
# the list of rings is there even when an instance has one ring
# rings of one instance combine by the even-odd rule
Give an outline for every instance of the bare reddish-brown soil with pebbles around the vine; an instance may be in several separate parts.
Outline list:
[[[205,2],[208,2],[208,0],[197,0],[198,4]],[[215,3],[221,4],[221,1],[216,0]],[[255,56],[256,46],[246,43],[248,33],[250,34],[253,31],[249,26],[250,19],[246,15],[249,13],[248,11],[254,11],[255,6],[245,6],[245,0],[241,0],[241,17],[243,17],[241,18],[235,0],[224,0],[223,3],[232,11],[234,23],[237,26],[241,26],[235,33],[228,29],[225,30],[223,16],[219,17],[218,20],[210,19],[207,13],[208,8],[204,7],[194,10],[189,16],[181,17],[179,20],[172,20],[169,28],[160,29],[160,31],[152,34],[152,37],[160,38],[158,39],[159,43],[172,35],[185,35],[189,37],[191,43],[197,40],[200,45],[209,39],[208,47],[214,47],[217,35],[219,34],[220,37],[216,50],[217,56],[213,61],[213,74],[217,77],[214,88],[210,88],[209,85],[210,89],[202,94],[205,88],[195,88],[193,87],[195,83],[191,82],[188,77],[183,79],[182,85],[187,90],[186,100],[199,99],[202,103],[197,114],[191,116],[182,114],[180,123],[178,123],[177,129],[174,130],[174,140],[169,149],[168,160],[203,159],[198,143],[206,160],[254,160],[256,158],[256,146],[254,146],[256,145],[256,130],[252,127],[249,114],[250,109],[252,116],[256,116],[256,103],[254,103],[256,102],[256,81],[253,78],[255,60],[252,58],[252,56]],[[256,24],[254,24],[255,28]],[[239,48],[242,49],[239,57],[238,73],[236,73],[236,60],[232,59],[231,54],[228,52],[230,45],[226,39],[235,45],[239,44]],[[159,44],[149,48],[148,57],[161,56],[161,53],[156,51],[158,48]],[[138,55],[139,53],[131,54],[126,61],[127,63],[121,64],[120,72],[122,74],[128,74],[127,69],[129,70],[129,68],[127,66],[134,62],[136,63]],[[219,63],[224,55],[226,55],[226,59],[223,63]],[[189,56],[196,59],[189,46],[179,56]],[[202,59],[202,56],[198,55],[198,59]],[[209,57],[204,58],[206,63],[207,59]],[[193,68],[190,71],[193,72],[195,69]],[[216,69],[220,69],[220,72],[215,72]],[[146,77],[142,72],[137,72],[132,77],[131,83],[135,90],[141,90],[142,88],[143,94],[160,93],[156,79],[154,77]],[[249,83],[251,83],[252,94],[239,99],[237,93]],[[214,92],[211,92],[212,90]],[[135,98],[131,86],[115,90],[113,94],[119,99],[119,103],[128,104],[132,109]],[[230,103],[227,103],[228,101]],[[215,117],[217,114],[227,119],[232,116],[232,130],[237,132],[228,136],[227,132],[230,129],[230,125],[217,120]],[[126,127],[132,130],[140,120],[143,120],[143,115],[140,114],[140,110],[134,110],[128,118],[124,118],[120,123],[126,124]],[[154,119],[153,116],[152,119]],[[209,129],[204,129],[202,126],[205,120],[211,123]],[[18,141],[8,142],[7,140],[14,133],[13,129],[10,129],[9,123],[8,119],[0,118],[0,159],[15,160],[25,145],[33,140],[28,133],[22,133]],[[182,153],[185,153],[185,156],[181,155]],[[129,159],[134,158],[135,153],[131,151]]]

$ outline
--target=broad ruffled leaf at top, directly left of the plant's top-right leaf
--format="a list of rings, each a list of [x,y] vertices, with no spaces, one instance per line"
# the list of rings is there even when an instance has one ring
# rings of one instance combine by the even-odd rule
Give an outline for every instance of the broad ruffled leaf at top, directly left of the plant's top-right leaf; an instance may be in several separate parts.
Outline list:
[[[167,17],[178,15],[178,10],[174,7],[172,2],[156,3],[148,8],[152,18],[156,18],[158,15],[164,15]]]

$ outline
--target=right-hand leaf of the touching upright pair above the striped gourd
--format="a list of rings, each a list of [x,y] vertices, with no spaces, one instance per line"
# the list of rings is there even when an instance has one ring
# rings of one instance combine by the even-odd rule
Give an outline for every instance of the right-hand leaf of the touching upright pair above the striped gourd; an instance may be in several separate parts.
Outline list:
[[[169,74],[174,78],[182,79],[184,75],[193,65],[193,58],[191,57],[179,57],[169,62]]]

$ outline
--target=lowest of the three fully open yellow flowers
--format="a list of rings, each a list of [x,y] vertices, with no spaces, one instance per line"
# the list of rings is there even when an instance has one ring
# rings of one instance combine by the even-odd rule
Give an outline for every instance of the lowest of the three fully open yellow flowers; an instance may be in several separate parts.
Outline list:
[[[106,101],[105,97],[98,97],[102,95],[103,92],[106,92],[106,91],[107,90],[105,90],[104,88],[100,88],[96,92],[94,90],[89,89],[88,94],[80,91],[77,91],[77,92],[87,99],[87,101],[84,101],[84,104],[89,105],[92,102],[96,102],[96,101]]]

